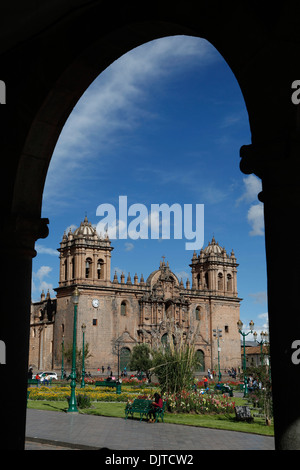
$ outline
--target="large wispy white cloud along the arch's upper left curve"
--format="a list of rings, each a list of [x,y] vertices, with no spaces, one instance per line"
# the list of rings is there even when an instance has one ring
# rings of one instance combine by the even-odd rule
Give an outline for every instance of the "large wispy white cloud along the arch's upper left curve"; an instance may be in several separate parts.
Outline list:
[[[62,130],[45,185],[48,203],[60,197],[60,187],[71,193],[87,162],[119,144],[120,131],[136,129],[142,118],[156,117],[145,111],[149,85],[187,64],[206,66],[216,60],[220,56],[206,40],[173,36],[146,43],[115,61],[87,89]]]

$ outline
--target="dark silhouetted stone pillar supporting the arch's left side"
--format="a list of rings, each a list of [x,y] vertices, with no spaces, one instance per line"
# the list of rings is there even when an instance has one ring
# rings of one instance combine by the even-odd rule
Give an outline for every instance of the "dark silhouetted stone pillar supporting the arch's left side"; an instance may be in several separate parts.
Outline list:
[[[48,235],[47,223],[47,219],[3,217],[0,228],[0,339],[6,348],[6,363],[0,365],[0,448],[4,450],[24,449],[32,258],[35,240]]]

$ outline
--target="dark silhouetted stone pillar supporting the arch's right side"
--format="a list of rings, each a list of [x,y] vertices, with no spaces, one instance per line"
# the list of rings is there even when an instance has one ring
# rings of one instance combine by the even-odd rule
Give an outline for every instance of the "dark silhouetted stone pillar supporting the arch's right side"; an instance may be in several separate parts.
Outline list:
[[[245,146],[241,156],[242,171],[262,178],[275,445],[300,450],[300,142]]]

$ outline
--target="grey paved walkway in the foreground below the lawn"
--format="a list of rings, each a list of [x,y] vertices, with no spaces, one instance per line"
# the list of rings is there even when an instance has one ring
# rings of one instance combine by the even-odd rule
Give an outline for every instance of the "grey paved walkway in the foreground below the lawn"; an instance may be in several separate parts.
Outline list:
[[[25,450],[274,450],[272,437],[55,411],[27,410]]]

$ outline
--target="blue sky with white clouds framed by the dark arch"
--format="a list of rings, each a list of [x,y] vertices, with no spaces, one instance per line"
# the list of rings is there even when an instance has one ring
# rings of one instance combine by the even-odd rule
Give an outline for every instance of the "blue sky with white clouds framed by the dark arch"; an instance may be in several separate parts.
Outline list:
[[[128,206],[204,204],[204,245],[215,239],[239,263],[241,319],[267,328],[266,263],[260,180],[239,169],[251,143],[248,116],[230,68],[207,41],[158,39],[122,56],[91,84],[56,145],[42,216],[50,234],[36,243],[32,299],[58,286],[57,248],[69,227],[119,196]],[[144,278],[162,256],[185,282],[193,251],[187,240],[114,240],[112,275]],[[199,253],[199,250],[197,250]]]

